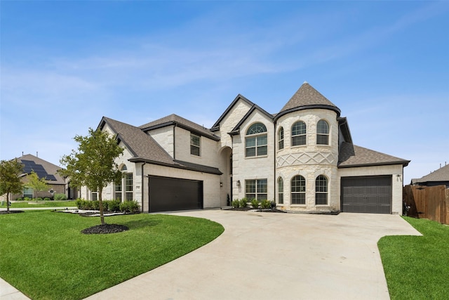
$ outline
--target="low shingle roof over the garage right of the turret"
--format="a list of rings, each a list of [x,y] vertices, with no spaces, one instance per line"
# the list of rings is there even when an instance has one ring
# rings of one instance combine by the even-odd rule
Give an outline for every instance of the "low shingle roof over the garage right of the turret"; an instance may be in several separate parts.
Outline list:
[[[339,168],[384,166],[391,164],[408,165],[410,160],[394,157],[352,143],[342,143],[338,157]]]

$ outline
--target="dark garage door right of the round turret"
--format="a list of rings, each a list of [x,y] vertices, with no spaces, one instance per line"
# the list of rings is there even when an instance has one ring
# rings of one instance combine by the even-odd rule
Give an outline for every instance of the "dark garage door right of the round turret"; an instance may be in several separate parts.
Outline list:
[[[391,214],[391,176],[342,177],[344,212]]]

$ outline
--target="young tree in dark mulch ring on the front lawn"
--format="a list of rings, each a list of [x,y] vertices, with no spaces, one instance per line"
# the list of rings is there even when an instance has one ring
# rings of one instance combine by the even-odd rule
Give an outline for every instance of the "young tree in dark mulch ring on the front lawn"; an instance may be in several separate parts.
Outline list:
[[[102,190],[109,183],[119,181],[122,173],[115,159],[123,154],[114,136],[100,130],[89,128],[88,136],[75,136],[79,144],[78,152],[64,155],[60,163],[66,167],[59,172],[70,177],[70,185],[81,187],[86,185],[89,190],[98,191],[101,224],[105,225],[103,216]]]

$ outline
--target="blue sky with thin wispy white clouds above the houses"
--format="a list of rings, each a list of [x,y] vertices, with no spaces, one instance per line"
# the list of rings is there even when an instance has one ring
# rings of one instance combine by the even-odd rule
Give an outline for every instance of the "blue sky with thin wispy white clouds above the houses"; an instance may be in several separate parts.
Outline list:
[[[210,127],[241,93],[271,113],[304,81],[356,145],[449,163],[448,1],[0,1],[0,159],[59,164],[102,116]]]

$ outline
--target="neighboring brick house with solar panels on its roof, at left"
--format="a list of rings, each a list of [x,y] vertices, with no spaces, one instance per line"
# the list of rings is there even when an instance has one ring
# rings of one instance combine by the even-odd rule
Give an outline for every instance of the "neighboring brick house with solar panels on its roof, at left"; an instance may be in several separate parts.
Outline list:
[[[28,182],[28,176],[34,171],[39,178],[46,178],[46,183],[48,184],[48,190],[43,190],[36,192],[32,188],[24,188],[22,194],[13,195],[11,200],[16,200],[21,197],[53,197],[55,193],[65,193],[65,178],[58,174],[58,170],[61,167],[51,164],[46,160],[40,159],[31,154],[23,155],[18,157],[18,162],[23,164],[22,182]],[[53,193],[51,193],[53,190]]]

